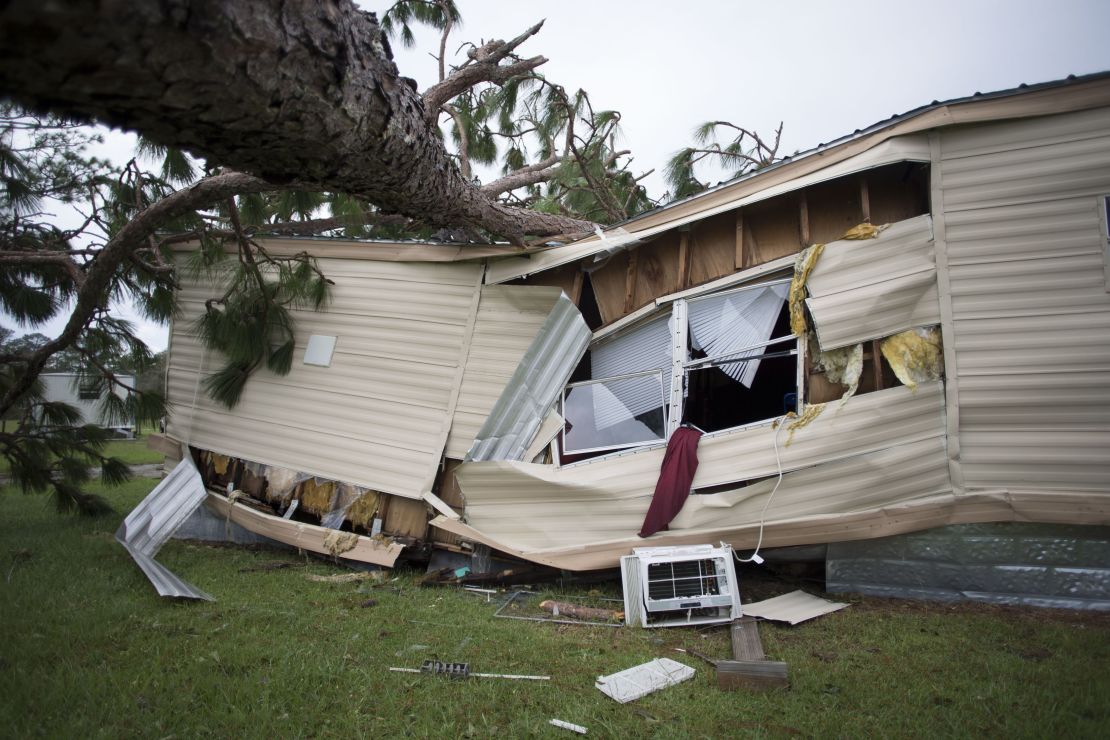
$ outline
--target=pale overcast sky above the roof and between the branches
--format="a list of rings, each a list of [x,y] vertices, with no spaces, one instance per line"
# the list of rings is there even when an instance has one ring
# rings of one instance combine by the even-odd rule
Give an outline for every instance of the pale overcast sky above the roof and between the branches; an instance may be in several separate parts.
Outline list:
[[[584,88],[598,110],[620,111],[633,169],[656,169],[645,181],[654,197],[666,190],[659,173],[668,156],[707,120],[768,135],[783,121],[779,153],[788,154],[934,100],[1110,70],[1108,0],[458,3],[463,26],[451,50],[513,38],[546,19],[521,53],[547,57],[548,79]],[[401,73],[421,90],[436,79],[434,48],[433,32],[418,32],[415,50],[394,44]],[[111,155],[125,162],[128,140],[112,141]],[[164,327],[137,323],[164,348]]]

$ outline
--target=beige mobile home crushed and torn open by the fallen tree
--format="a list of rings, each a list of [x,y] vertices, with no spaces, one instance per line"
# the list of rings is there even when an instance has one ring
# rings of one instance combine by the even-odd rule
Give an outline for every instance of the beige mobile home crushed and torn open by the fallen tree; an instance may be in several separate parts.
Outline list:
[[[319,260],[329,310],[228,410],[190,333],[218,288],[184,283],[168,449],[220,517],[383,566],[1110,524],[1108,196],[1100,74],[934,103],[568,245],[266,240]],[[684,428],[693,491],[642,538]]]

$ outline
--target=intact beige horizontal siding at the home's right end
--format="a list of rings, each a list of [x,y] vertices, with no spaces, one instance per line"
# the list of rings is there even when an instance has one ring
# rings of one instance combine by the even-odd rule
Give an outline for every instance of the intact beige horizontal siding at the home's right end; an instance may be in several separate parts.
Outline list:
[[[1110,109],[945,130],[940,154],[967,487],[1110,493]]]

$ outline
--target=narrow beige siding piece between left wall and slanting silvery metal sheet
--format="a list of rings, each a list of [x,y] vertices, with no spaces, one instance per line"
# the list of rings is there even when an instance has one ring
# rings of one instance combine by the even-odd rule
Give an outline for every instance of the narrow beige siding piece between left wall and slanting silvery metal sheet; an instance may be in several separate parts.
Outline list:
[[[463,459],[563,292],[539,285],[482,288],[447,457]]]

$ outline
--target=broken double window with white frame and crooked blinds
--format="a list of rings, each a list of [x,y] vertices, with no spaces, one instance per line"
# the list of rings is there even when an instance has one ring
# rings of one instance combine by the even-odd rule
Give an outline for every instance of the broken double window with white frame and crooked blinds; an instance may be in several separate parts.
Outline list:
[[[683,423],[718,432],[795,410],[798,342],[788,291],[789,281],[779,280],[678,300],[596,342],[588,379],[563,396],[563,453],[658,444]]]

